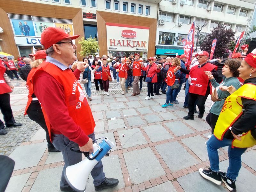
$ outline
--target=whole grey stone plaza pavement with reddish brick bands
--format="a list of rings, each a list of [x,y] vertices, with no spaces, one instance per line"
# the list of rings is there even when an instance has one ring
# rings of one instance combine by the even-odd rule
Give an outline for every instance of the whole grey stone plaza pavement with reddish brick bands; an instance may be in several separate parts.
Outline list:
[[[60,175],[63,167],[61,153],[48,153],[45,132],[27,116],[23,116],[27,103],[24,81],[15,84],[11,94],[12,110],[17,122],[23,126],[6,128],[1,136],[0,154],[10,156],[15,168],[6,192],[55,192],[60,191]],[[96,122],[96,138],[108,137],[115,143],[110,156],[102,159],[107,177],[119,179],[119,184],[104,191],[119,192],[197,192],[228,191],[204,180],[198,168],[208,167],[205,147],[210,127],[205,116],[211,107],[206,101],[203,119],[184,120],[188,109],[182,108],[183,89],[179,93],[180,104],[161,108],[165,95],[145,100],[146,83],[140,95],[121,95],[120,85],[110,84],[110,96],[92,91],[89,101]],[[93,84],[92,90],[95,90]],[[112,117],[116,119],[111,120]],[[2,114],[0,118],[3,119]],[[122,136],[125,135],[125,137]],[[227,170],[227,148],[220,149],[220,169]],[[237,178],[237,191],[255,191],[256,147],[249,148],[242,156],[242,168]],[[88,192],[93,192],[92,177],[87,182]]]

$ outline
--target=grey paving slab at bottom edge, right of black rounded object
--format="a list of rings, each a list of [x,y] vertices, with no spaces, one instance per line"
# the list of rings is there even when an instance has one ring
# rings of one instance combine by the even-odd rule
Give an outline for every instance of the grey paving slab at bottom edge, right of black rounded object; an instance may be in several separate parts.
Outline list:
[[[31,173],[25,173],[22,175],[12,176],[5,192],[21,192],[30,175]]]

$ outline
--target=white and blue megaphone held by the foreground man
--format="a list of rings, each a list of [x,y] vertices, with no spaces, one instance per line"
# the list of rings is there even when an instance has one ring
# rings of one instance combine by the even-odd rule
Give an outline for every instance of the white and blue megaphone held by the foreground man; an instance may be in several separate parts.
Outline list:
[[[84,192],[86,181],[93,167],[114,147],[114,143],[108,138],[99,144],[93,144],[93,153],[87,153],[86,158],[74,165],[66,168],[64,175],[69,186],[77,192]]]

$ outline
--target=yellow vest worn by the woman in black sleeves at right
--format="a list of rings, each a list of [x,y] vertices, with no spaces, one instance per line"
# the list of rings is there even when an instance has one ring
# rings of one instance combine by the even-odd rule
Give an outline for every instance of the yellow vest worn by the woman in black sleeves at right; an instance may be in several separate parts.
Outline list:
[[[218,140],[223,140],[229,127],[243,114],[242,97],[256,100],[256,85],[244,84],[225,100],[213,132]],[[256,140],[252,137],[251,131],[242,133],[241,141],[237,139],[232,141],[232,148],[249,148],[254,145],[256,145]]]

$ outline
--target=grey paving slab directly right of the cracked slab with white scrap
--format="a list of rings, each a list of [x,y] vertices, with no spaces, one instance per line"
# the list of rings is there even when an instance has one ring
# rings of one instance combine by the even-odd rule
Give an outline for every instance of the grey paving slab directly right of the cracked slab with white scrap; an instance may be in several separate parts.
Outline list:
[[[173,138],[172,135],[160,124],[143,127],[143,129],[152,142]]]

